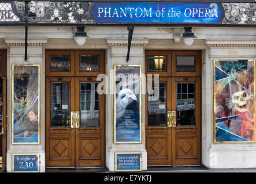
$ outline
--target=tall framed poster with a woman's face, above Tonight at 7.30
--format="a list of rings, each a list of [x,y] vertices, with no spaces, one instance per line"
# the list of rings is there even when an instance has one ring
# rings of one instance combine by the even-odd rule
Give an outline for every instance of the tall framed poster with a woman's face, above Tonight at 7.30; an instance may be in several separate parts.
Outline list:
[[[40,65],[12,65],[12,144],[40,143]]]

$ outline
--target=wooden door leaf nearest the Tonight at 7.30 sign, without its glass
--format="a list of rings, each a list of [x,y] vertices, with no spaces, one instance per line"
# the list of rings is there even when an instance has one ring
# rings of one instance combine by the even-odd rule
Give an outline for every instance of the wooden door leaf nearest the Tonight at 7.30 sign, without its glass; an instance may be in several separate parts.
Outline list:
[[[60,125],[60,127],[59,125],[55,127],[55,124],[53,127],[51,127],[51,116],[55,116],[57,114],[55,112],[55,114],[51,114],[51,82],[70,84],[69,110],[71,112],[75,109],[75,92],[71,90],[75,88],[75,79],[70,77],[46,78],[46,166],[75,167],[75,129],[71,128],[71,123],[68,121],[67,118],[63,119],[64,124]],[[64,94],[64,92],[65,91],[60,91],[58,93],[64,96],[68,96],[68,93]],[[61,100],[61,102],[63,101]],[[63,104],[60,105],[60,108],[66,109],[66,105],[63,106],[63,108],[62,105]],[[61,111],[61,113],[63,112]],[[61,117],[64,116],[61,115]],[[62,120],[58,121],[62,122]]]

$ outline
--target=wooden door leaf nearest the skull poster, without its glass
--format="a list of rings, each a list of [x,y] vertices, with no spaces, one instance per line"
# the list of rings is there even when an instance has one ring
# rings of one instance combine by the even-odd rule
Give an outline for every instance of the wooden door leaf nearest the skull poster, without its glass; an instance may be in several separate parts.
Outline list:
[[[201,132],[201,84],[200,78],[190,77],[190,78],[173,78],[172,79],[172,86],[176,89],[176,83],[181,83],[187,85],[188,83],[194,84],[194,113],[193,115],[193,123],[192,121],[188,121],[191,125],[179,125],[181,121],[178,120],[179,110],[181,108],[177,108],[176,98],[177,95],[172,96],[172,109],[176,111],[176,127],[173,128],[173,165],[180,166],[180,165],[199,165],[201,164],[201,143],[200,143],[200,132]],[[186,94],[187,92],[184,92]],[[188,96],[187,96],[188,98]],[[186,101],[188,99],[185,99]],[[191,99],[190,99],[191,100]],[[188,101],[185,102],[187,105],[189,104]],[[191,104],[190,104],[191,105]],[[183,105],[183,110],[181,111],[188,111],[189,108]],[[193,109],[190,106],[191,109]],[[192,119],[192,118],[191,118]]]

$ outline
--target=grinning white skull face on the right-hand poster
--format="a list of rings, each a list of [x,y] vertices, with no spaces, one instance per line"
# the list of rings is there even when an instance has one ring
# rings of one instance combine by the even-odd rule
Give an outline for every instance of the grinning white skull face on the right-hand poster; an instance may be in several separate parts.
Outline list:
[[[247,91],[238,91],[232,95],[232,102],[239,112],[247,112],[253,105],[252,98]]]

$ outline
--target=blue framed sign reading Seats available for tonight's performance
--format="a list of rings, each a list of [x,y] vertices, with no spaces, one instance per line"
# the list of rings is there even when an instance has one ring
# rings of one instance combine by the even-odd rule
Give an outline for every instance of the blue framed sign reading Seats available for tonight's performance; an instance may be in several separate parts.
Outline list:
[[[142,171],[141,152],[115,152],[115,171]]]

